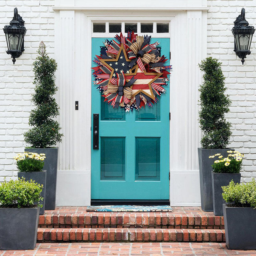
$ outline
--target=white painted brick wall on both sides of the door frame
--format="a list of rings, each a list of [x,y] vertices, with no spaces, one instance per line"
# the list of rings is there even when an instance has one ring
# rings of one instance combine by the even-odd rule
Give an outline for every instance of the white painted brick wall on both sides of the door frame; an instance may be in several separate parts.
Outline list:
[[[23,132],[28,129],[33,92],[32,63],[40,41],[47,51],[54,53],[54,0],[1,0],[0,28],[13,16],[14,7],[25,20],[28,29],[25,36],[25,52],[12,64],[11,56],[5,53],[4,33],[0,33],[0,181],[17,175],[12,157],[24,149]],[[243,180],[256,177],[256,34],[251,45],[252,54],[244,66],[233,52],[234,39],[231,33],[233,21],[245,7],[245,17],[256,26],[255,0],[208,1],[207,47],[208,56],[222,61],[228,94],[233,101],[228,119],[232,123],[233,136],[230,147],[246,155]]]

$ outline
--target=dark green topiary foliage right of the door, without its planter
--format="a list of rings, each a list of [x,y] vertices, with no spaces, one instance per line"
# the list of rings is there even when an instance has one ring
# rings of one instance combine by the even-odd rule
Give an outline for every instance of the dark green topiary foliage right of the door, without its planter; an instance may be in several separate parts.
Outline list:
[[[221,62],[208,57],[199,64],[204,72],[204,83],[200,85],[199,123],[203,131],[201,145],[203,148],[226,148],[231,124],[225,119],[231,100],[225,95],[225,77],[221,70]]]

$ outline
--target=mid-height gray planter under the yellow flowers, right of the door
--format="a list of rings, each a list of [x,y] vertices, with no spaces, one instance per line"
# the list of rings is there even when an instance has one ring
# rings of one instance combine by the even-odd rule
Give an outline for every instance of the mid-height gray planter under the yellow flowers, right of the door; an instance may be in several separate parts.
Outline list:
[[[215,173],[212,172],[212,197],[213,212],[215,216],[223,216],[223,206],[225,200],[222,198],[221,186],[228,186],[231,180],[240,183],[241,173]]]

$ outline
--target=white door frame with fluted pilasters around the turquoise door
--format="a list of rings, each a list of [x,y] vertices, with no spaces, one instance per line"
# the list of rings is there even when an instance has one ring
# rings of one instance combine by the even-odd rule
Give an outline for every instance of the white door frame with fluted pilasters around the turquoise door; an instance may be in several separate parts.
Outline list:
[[[198,63],[206,57],[207,8],[181,10],[176,7],[173,11],[151,9],[146,12],[134,10],[132,17],[128,15],[130,10],[85,10],[83,7],[54,9],[55,58],[59,65],[57,84],[60,87],[60,124],[65,135],[60,145],[56,204],[71,205],[74,196],[77,200],[73,205],[90,204],[92,22],[123,21],[124,17],[125,21],[171,23],[168,35],[171,37],[173,65],[170,76],[171,205],[200,204],[196,150],[201,136],[197,122],[198,86],[201,84]],[[116,12],[114,16],[113,11]],[[93,33],[93,36],[96,36],[95,34]],[[97,34],[98,37],[106,37],[106,33]],[[79,101],[78,111],[75,110],[75,100]],[[172,175],[173,173],[175,175]],[[198,184],[194,182],[193,186],[189,186],[189,183],[186,183],[186,186],[183,186],[181,182],[178,188],[175,187],[175,191],[172,190],[173,185],[182,181],[184,175],[193,175],[191,177],[195,177],[194,181]],[[74,180],[71,184],[76,184],[75,188],[67,188],[67,179],[69,182]],[[64,196],[65,200],[59,199]]]

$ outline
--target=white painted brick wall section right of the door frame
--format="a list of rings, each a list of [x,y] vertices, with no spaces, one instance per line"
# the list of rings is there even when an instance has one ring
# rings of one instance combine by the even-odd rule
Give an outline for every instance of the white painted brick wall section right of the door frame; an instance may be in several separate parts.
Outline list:
[[[226,76],[228,95],[232,106],[228,119],[232,123],[233,136],[230,147],[245,154],[242,180],[256,177],[256,35],[251,45],[252,54],[244,65],[236,57],[231,29],[236,17],[245,8],[245,18],[256,27],[256,2],[254,0],[207,1],[210,7],[207,17],[207,53],[222,62]]]

